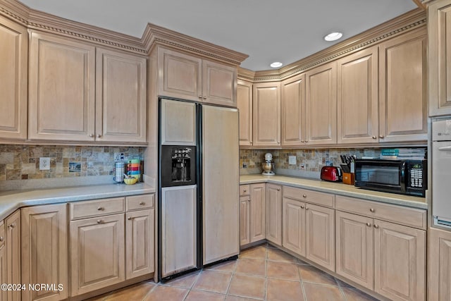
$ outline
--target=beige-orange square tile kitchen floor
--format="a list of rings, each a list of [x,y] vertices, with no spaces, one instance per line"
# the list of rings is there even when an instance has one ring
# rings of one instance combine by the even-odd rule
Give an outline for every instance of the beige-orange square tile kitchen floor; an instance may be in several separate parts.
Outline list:
[[[166,283],[142,282],[89,301],[375,301],[314,266],[271,245]]]

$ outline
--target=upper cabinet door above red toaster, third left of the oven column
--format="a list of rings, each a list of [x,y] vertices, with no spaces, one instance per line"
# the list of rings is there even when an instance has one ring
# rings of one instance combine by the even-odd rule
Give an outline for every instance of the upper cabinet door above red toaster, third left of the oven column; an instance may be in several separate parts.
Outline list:
[[[305,122],[309,145],[337,143],[337,62],[306,73]]]

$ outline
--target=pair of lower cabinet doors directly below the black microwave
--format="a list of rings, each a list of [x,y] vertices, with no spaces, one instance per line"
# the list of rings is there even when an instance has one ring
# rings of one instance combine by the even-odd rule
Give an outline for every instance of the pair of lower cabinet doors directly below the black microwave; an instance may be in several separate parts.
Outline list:
[[[337,274],[390,300],[425,300],[426,231],[336,211]]]

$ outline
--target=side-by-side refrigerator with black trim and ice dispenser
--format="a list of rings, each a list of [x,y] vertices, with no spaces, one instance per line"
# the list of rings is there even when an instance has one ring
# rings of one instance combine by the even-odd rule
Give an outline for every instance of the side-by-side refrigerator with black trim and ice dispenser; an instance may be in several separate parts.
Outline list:
[[[159,100],[159,279],[236,258],[238,112]]]

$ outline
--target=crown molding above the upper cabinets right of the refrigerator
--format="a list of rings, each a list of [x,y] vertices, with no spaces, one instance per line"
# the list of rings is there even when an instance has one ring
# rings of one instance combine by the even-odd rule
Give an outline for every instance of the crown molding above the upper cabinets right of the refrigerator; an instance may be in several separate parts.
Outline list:
[[[420,27],[426,27],[426,11],[416,8],[280,69],[255,71],[254,78],[252,71],[238,68],[238,78],[252,82],[283,80]]]

